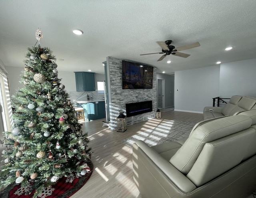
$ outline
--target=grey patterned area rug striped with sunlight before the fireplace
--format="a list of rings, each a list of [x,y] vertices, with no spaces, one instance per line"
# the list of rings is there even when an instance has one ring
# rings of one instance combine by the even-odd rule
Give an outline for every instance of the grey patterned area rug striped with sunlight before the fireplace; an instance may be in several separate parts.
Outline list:
[[[196,122],[190,121],[163,120],[156,127],[152,127],[152,129],[147,129],[146,131],[140,131],[136,135],[122,140],[121,143],[132,148],[132,144],[137,140],[144,141],[150,147],[176,141],[188,137],[195,124]]]

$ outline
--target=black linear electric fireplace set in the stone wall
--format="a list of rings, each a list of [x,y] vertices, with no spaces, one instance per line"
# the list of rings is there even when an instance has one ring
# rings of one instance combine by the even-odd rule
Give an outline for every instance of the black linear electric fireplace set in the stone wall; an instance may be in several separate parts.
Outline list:
[[[126,104],[126,116],[131,117],[152,111],[152,100]]]

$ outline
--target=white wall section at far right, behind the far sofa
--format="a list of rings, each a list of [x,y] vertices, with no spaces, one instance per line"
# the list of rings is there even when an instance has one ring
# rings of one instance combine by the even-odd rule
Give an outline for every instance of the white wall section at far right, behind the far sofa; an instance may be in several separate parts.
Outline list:
[[[256,59],[220,65],[220,97],[232,95],[256,97]]]

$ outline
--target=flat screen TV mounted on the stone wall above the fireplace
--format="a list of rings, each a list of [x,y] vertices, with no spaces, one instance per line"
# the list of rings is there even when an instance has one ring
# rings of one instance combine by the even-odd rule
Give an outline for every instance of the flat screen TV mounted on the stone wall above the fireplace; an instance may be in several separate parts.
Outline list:
[[[123,89],[152,89],[154,67],[122,61]]]

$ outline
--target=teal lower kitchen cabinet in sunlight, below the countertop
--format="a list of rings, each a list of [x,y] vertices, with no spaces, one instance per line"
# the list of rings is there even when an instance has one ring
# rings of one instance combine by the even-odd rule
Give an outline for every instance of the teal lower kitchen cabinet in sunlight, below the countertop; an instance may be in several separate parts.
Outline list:
[[[98,120],[105,118],[105,103],[104,101],[84,103],[84,117],[86,120]]]

